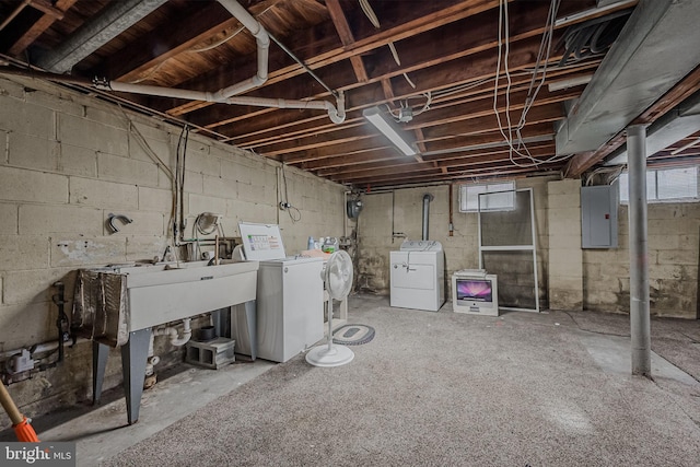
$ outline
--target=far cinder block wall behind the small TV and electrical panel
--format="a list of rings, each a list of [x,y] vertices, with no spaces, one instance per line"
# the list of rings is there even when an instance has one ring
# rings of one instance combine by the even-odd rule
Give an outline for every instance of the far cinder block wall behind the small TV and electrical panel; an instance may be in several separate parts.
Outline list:
[[[581,180],[533,177],[516,180],[516,186],[534,191],[542,310],[629,313],[627,206],[618,208],[618,248],[582,249]],[[452,237],[447,231],[447,186],[368,194],[358,227],[360,289],[389,293],[389,252],[398,249],[402,241],[392,241],[392,222],[395,232],[419,240],[424,192],[435,196],[431,202],[430,240],[440,241],[445,248],[447,278],[456,270],[478,267],[477,214],[458,212],[457,185]],[[649,206],[652,315],[698,318],[699,246],[700,203]],[[446,300],[451,300],[448,288]]]

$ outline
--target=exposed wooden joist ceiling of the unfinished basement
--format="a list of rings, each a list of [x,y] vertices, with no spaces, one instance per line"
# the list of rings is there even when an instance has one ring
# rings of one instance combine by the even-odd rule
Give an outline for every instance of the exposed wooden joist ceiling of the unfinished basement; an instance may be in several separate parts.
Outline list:
[[[567,112],[576,108],[587,83],[600,81],[594,73],[606,46],[621,42],[618,34],[626,34],[623,26],[645,0],[238,3],[271,36],[269,78],[241,96],[337,105],[342,93],[347,114],[341,124],[319,109],[114,91],[96,95],[117,96],[140,112],[187,122],[194,131],[358,189],[548,172],[579,176],[623,143],[622,126],[598,150],[561,154],[557,130],[565,126]],[[552,4],[556,22],[547,57],[540,48],[547,49],[541,45],[548,44]],[[508,22],[499,21],[505,17]],[[669,43],[678,40],[674,34],[668,31]],[[250,32],[217,1],[27,0],[0,3],[0,54],[8,62],[0,71],[25,72],[31,66],[35,72],[60,73],[51,79],[81,90],[98,78],[215,92],[255,77],[259,51]],[[652,104],[634,121],[653,122],[700,87],[695,55],[685,60],[675,82],[650,84],[657,95],[646,96]],[[662,60],[648,61],[663,67]],[[402,120],[397,125],[416,143],[416,155],[399,152],[363,118],[362,110],[375,106]],[[695,161],[698,130],[650,163]]]

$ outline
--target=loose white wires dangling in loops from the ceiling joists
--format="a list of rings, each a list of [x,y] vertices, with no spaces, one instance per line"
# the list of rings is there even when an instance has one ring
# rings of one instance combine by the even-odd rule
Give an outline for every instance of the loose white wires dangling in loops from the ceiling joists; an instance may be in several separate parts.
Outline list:
[[[509,69],[509,55],[510,55],[510,31],[509,31],[509,11],[508,0],[500,0],[499,2],[499,42],[498,42],[498,62],[495,70],[495,79],[493,86],[493,113],[497,118],[499,131],[503,136],[504,141],[509,147],[509,159],[511,163],[518,167],[534,167],[539,164],[553,163],[568,159],[570,155],[555,155],[548,159],[534,157],[525,144],[521,130],[525,127],[527,113],[532,108],[537,97],[537,93],[541,89],[545,79],[547,77],[547,67],[549,65],[549,55],[551,51],[551,38],[553,35],[555,23],[557,20],[557,11],[559,9],[561,0],[551,0],[549,7],[549,13],[547,15],[547,22],[545,32],[542,33],[542,39],[540,42],[539,51],[537,54],[535,69],[530,71],[532,79],[525,105],[523,106],[521,118],[517,125],[514,127],[511,120],[511,87],[512,77]],[[499,82],[501,80],[501,66],[503,66],[503,75],[506,80],[505,87],[505,108],[504,114],[506,118],[506,128],[503,127],[501,116],[498,109],[498,95],[499,95]],[[540,71],[541,67],[541,71]],[[541,78],[537,82],[537,75]],[[537,83],[537,85],[535,85]],[[508,131],[508,135],[506,135]],[[515,156],[527,159],[529,162],[523,163],[515,160]]]

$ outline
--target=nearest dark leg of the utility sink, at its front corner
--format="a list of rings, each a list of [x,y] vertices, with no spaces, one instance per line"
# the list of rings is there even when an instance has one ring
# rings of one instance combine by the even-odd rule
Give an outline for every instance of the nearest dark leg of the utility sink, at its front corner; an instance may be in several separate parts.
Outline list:
[[[124,393],[127,398],[129,424],[139,420],[150,340],[151,328],[145,328],[129,332],[129,341],[121,346],[121,374],[124,375]]]

